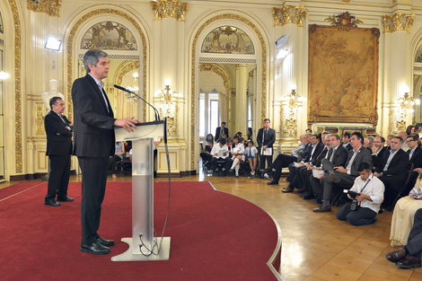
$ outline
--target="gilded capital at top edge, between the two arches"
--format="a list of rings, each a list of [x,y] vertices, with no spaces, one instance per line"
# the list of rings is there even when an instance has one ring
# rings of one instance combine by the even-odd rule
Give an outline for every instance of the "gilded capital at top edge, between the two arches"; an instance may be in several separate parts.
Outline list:
[[[184,22],[186,12],[188,12],[188,3],[180,3],[180,0],[151,1],[151,5],[155,21],[161,21],[163,18],[173,18],[178,22]]]

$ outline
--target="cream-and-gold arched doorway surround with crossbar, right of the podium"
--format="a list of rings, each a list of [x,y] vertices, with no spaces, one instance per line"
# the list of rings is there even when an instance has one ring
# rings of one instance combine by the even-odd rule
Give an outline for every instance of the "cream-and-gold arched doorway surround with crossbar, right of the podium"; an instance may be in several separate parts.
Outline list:
[[[203,42],[206,40],[209,34],[212,34],[212,31],[221,27],[235,27],[242,30],[247,36],[250,37],[251,43],[255,48],[253,55],[251,54],[207,54],[207,52],[202,52]],[[222,29],[223,30],[223,29]],[[200,85],[198,84],[198,76],[200,72],[200,65],[204,63],[214,63],[219,64],[220,66],[226,64],[232,65],[252,65],[254,67],[251,71],[251,80],[246,78],[246,87],[250,82],[254,82],[253,86],[249,88],[253,89],[254,98],[253,98],[253,113],[255,116],[253,121],[251,121],[251,127],[255,127],[258,131],[259,124],[262,123],[263,119],[266,118],[268,112],[268,40],[264,37],[264,31],[262,31],[258,24],[252,22],[248,19],[248,16],[243,14],[233,13],[222,13],[215,16],[211,16],[207,19],[204,19],[202,24],[198,24],[198,29],[196,29],[192,34],[192,45],[190,46],[191,52],[191,61],[190,61],[190,106],[192,110],[191,114],[191,127],[190,127],[190,168],[191,170],[198,169],[198,152],[199,152],[199,136],[198,136],[198,124],[199,124],[199,95],[200,95]],[[209,38],[209,37],[208,37]],[[230,43],[230,40],[228,43]],[[213,46],[213,41],[210,42],[211,47]],[[216,47],[216,45],[215,45]],[[244,67],[244,66],[243,66]],[[248,69],[244,67],[243,70]],[[248,73],[246,71],[246,73]],[[254,76],[253,76],[254,75]],[[259,83],[257,82],[259,81]],[[248,99],[246,99],[248,100]],[[213,132],[214,133],[214,132]],[[229,132],[230,133],[230,132]],[[235,133],[235,132],[234,132]],[[233,135],[234,135],[233,133]],[[252,133],[252,135],[256,135]]]

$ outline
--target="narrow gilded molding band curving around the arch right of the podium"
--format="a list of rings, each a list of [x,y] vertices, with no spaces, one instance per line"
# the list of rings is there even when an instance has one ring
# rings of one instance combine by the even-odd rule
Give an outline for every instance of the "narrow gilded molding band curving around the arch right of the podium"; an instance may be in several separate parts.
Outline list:
[[[216,21],[222,21],[222,20],[235,20],[242,22],[246,25],[248,25],[252,31],[255,32],[259,39],[260,47],[261,47],[261,104],[260,104],[260,111],[261,111],[261,123],[263,123],[264,119],[266,119],[267,110],[267,46],[265,44],[264,36],[261,34],[259,29],[251,22],[250,20],[242,17],[242,15],[233,14],[233,13],[224,13],[224,14],[218,14],[214,17],[207,20],[207,22],[204,22],[199,28],[197,33],[195,34],[195,37],[192,42],[192,62],[190,66],[190,72],[191,72],[191,85],[190,85],[190,119],[191,119],[191,125],[190,125],[190,168],[191,170],[195,169],[195,112],[196,112],[196,70],[197,70],[197,45],[198,45],[198,38],[199,35],[204,31],[204,29],[210,25],[213,22]],[[202,43],[202,42],[201,42]],[[201,46],[198,46],[199,48]]]

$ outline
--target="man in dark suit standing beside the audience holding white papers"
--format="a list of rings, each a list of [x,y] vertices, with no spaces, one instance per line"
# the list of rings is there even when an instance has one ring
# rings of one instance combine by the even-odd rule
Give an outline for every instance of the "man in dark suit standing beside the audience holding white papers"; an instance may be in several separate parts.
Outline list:
[[[265,169],[266,160],[268,167],[273,162],[273,145],[276,142],[276,130],[269,127],[270,123],[269,119],[264,119],[264,127],[259,129],[257,136],[257,143],[259,146],[259,167],[261,170]]]

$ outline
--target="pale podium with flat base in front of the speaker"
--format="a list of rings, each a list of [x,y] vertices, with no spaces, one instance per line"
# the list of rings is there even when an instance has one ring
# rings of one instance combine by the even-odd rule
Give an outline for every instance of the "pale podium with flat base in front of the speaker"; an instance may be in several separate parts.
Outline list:
[[[132,141],[132,237],[112,261],[168,260],[170,237],[154,237],[154,137],[166,137],[166,121],[145,122],[128,133],[116,127],[116,141]],[[161,246],[161,248],[160,248]]]

